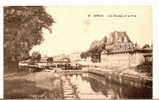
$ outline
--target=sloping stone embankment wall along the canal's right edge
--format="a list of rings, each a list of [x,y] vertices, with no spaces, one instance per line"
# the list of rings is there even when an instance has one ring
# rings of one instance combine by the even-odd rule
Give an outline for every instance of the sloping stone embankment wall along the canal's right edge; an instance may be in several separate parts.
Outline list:
[[[87,70],[89,73],[103,76],[110,82],[115,82],[122,85],[129,85],[135,87],[152,87],[152,77],[148,77],[141,73],[134,73],[133,71],[122,72],[119,70],[109,70],[89,67]]]

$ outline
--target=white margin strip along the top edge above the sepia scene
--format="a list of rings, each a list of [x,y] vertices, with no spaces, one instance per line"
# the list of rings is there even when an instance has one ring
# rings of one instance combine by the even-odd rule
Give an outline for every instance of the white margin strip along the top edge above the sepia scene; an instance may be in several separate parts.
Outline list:
[[[157,0],[156,0],[157,1]],[[152,5],[152,0],[1,0],[2,5]]]

